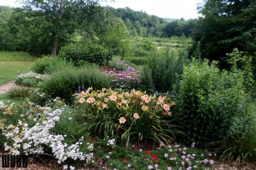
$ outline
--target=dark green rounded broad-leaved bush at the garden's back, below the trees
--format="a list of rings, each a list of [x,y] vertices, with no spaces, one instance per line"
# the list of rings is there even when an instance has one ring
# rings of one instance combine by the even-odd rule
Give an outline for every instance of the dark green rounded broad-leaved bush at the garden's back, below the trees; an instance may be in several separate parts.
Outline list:
[[[78,66],[81,61],[87,61],[102,66],[106,65],[111,59],[107,49],[91,42],[86,44],[69,44],[61,48],[58,56],[73,62],[76,66]]]

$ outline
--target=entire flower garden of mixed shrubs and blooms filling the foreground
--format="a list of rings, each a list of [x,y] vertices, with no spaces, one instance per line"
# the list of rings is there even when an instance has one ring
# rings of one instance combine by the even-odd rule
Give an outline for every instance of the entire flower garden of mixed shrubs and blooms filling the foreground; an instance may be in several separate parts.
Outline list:
[[[147,57],[142,63],[99,45],[70,44],[18,73],[17,87],[0,102],[4,152],[54,158],[60,169],[254,162],[251,57],[234,49],[231,69],[221,70],[218,62],[190,58],[188,48],[141,43],[133,52],[145,55],[133,58]]]

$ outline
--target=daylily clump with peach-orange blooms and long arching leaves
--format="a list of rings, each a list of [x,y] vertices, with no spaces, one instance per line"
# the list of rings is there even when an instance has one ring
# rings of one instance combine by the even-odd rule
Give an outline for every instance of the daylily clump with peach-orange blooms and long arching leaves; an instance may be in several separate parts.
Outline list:
[[[165,141],[179,133],[171,118],[175,101],[165,96],[148,96],[146,92],[105,89],[76,94],[76,117],[81,130],[99,137],[119,141]]]

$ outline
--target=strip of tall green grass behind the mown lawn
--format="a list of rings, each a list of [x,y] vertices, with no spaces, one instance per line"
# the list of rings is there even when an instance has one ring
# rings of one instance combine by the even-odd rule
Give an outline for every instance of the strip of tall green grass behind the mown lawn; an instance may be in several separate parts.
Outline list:
[[[33,62],[35,59],[26,52],[0,52],[0,62]]]

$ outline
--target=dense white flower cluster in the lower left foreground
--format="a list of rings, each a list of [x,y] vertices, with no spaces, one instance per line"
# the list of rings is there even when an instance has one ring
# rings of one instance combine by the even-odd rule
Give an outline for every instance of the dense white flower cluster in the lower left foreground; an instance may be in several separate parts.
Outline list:
[[[63,163],[67,158],[86,160],[86,163],[92,162],[93,153],[85,155],[79,151],[83,137],[74,145],[68,146],[67,143],[62,143],[64,140],[63,135],[57,135],[51,132],[51,129],[55,126],[55,122],[60,119],[60,115],[62,114],[61,109],[50,112],[49,107],[42,108],[44,109],[44,113],[32,128],[28,128],[27,124],[19,121],[16,127],[9,125],[3,131],[3,134],[7,138],[13,140],[13,145],[5,143],[5,150],[9,151],[10,154],[19,154],[19,150],[23,147],[25,154],[41,154],[44,152],[44,146],[48,146],[52,149],[53,155],[58,159],[59,164]],[[89,143],[88,145],[89,151],[92,151],[93,144]]]

